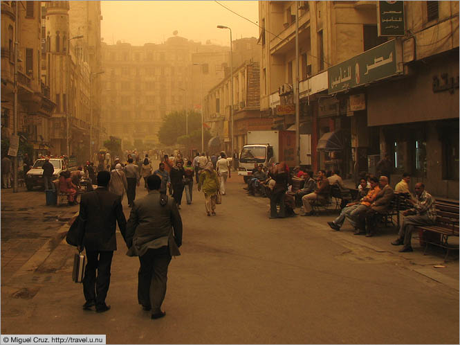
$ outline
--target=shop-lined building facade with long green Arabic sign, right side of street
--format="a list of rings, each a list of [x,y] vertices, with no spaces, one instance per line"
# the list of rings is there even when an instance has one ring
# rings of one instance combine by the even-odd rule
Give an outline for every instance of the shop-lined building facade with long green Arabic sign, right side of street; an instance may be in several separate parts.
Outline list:
[[[376,172],[376,162],[388,153],[394,182],[405,170],[432,187],[435,195],[450,196],[447,191],[453,186],[458,197],[458,173],[453,173],[457,182],[444,179],[451,174],[452,162],[421,173],[430,161],[423,147],[428,139],[436,141],[431,130],[421,127],[434,124],[440,133],[454,128],[449,143],[438,143],[432,154],[443,157],[447,153],[441,152],[451,152],[450,161],[458,154],[458,145],[450,149],[458,136],[458,97],[448,98],[458,91],[422,91],[423,82],[425,89],[432,87],[433,73],[438,73],[439,85],[441,74],[454,80],[458,76],[458,3],[403,2],[405,32],[396,38],[378,35],[378,1],[298,1],[298,6],[300,132],[311,134],[311,168],[338,169],[346,177],[356,177],[362,170]],[[292,128],[295,114],[279,116],[277,110],[293,105],[296,13],[297,1],[259,2],[261,111],[285,129]],[[439,105],[445,107],[443,112],[434,111]],[[421,132],[431,134],[417,139]]]

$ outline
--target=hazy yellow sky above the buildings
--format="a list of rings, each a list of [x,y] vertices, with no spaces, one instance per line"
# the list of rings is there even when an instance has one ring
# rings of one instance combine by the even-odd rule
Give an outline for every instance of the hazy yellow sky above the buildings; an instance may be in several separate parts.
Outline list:
[[[219,1],[234,12],[257,22],[257,1]],[[107,44],[118,40],[142,45],[160,44],[178,30],[178,36],[196,42],[230,45],[232,38],[259,37],[259,29],[249,21],[234,15],[214,1],[101,1],[101,37]]]

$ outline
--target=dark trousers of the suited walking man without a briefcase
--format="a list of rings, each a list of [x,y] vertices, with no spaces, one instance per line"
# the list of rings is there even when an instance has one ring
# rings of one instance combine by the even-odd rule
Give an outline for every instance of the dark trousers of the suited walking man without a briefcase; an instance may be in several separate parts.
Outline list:
[[[171,261],[168,247],[148,249],[139,256],[138,302],[150,306],[152,314],[160,312],[166,294],[167,267]]]

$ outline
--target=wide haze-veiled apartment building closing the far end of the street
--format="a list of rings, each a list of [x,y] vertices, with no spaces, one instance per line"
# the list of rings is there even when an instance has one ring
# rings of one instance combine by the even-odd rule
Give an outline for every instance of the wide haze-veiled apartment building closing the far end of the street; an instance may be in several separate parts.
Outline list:
[[[228,47],[174,35],[164,44],[102,43],[102,122],[107,133],[134,145],[158,145],[166,114],[200,111],[203,95],[221,80]]]

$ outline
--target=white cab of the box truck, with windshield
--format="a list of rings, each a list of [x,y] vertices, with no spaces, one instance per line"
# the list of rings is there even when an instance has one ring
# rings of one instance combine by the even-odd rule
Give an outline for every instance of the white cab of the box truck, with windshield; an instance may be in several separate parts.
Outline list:
[[[238,176],[243,176],[244,182],[252,176],[255,164],[270,166],[274,160],[273,146],[270,144],[244,145],[239,154]]]

